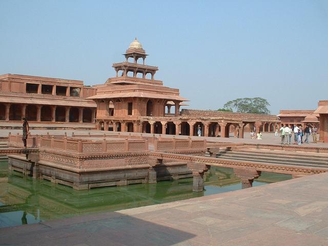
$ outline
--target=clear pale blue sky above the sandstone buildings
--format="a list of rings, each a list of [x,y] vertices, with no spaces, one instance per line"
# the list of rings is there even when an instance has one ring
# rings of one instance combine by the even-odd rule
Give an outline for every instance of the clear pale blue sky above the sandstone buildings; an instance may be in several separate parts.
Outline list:
[[[137,37],[194,109],[263,97],[271,113],[328,99],[328,1],[0,0],[0,74],[105,83]]]

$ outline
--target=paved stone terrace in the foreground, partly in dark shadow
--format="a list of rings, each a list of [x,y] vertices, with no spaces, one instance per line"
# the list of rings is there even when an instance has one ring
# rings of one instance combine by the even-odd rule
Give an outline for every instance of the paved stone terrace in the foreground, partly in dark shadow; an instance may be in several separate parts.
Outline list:
[[[0,229],[0,245],[328,245],[328,173]]]

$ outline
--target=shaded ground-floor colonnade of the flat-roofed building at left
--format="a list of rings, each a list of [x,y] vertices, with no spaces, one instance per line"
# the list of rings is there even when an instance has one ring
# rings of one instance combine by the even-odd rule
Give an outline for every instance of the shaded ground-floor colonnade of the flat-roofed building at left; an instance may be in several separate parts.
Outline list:
[[[33,104],[0,104],[0,120],[43,122],[89,122],[93,123],[96,109]]]

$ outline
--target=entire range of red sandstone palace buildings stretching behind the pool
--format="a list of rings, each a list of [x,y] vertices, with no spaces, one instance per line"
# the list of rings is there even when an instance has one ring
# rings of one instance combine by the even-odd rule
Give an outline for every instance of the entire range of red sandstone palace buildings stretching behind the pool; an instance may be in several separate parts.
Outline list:
[[[326,126],[326,101],[314,110],[281,110],[276,115],[243,114],[210,110],[180,110],[187,98],[179,89],[163,86],[155,79],[158,67],[146,65],[146,51],[134,40],[113,64],[116,76],[103,85],[84,86],[83,81],[39,76],[0,75],[0,121],[17,122],[26,117],[31,124],[43,122],[94,123],[104,131],[127,131],[172,135],[243,137],[244,130],[273,132],[281,123]],[[328,107],[328,106],[327,106]],[[325,111],[326,110],[326,111]],[[320,122],[320,124],[319,124]],[[325,130],[320,139],[325,140]]]

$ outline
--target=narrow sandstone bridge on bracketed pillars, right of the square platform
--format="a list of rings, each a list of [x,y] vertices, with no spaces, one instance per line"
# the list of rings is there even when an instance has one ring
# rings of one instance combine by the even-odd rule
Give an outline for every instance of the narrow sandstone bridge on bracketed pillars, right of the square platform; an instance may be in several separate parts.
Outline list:
[[[291,174],[293,177],[328,172],[327,167],[315,166],[296,166],[289,164],[272,164],[265,162],[230,160],[222,158],[213,158],[195,155],[183,155],[175,153],[150,152],[149,155],[157,159],[157,162],[163,160],[186,161],[188,168],[193,172],[193,191],[203,190],[203,174],[211,167],[233,168],[235,174],[241,178],[242,188],[252,187],[254,179],[261,175],[261,172]]]

